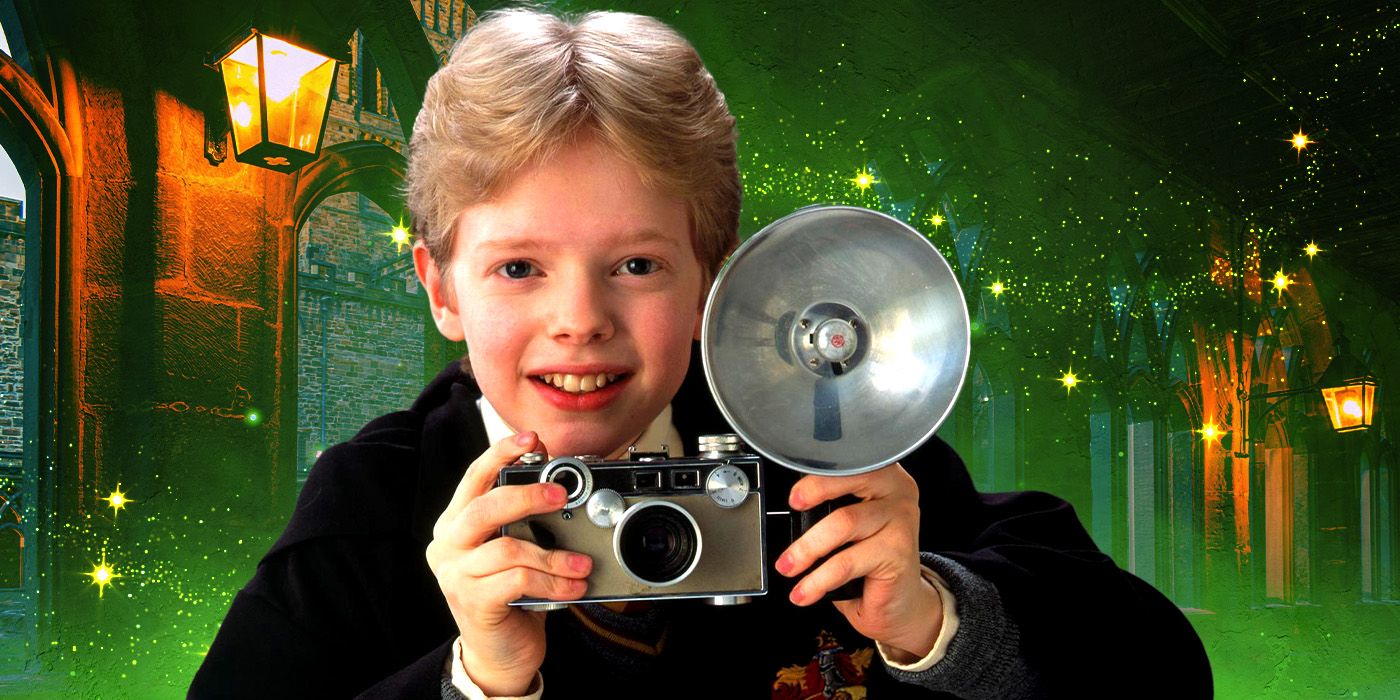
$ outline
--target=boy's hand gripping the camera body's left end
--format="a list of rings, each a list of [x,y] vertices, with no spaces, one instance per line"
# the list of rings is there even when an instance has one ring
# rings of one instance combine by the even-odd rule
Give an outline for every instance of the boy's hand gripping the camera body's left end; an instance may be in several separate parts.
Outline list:
[[[491,445],[472,462],[428,543],[428,567],[462,634],[462,662],[487,696],[522,696],[545,662],[545,613],[508,603],[522,596],[574,601],[584,595],[592,560],[497,536],[526,515],[561,510],[559,484],[496,486],[503,466],[545,452],[535,433]]]

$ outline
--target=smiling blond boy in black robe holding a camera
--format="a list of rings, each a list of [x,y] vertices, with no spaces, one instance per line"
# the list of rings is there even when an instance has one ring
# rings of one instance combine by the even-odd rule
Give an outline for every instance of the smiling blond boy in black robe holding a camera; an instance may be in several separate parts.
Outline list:
[[[774,547],[781,575],[750,605],[511,608],[581,598],[592,561],[497,536],[564,504],[557,484],[494,487],[501,466],[729,431],[693,340],[738,242],[734,118],[655,20],[497,13],[428,84],[409,206],[434,321],[470,368],[326,451],[192,696],[517,697],[546,678],[603,697],[1210,694],[1180,612],[1065,503],[977,494],[937,438],[907,472],[778,494],[861,501]],[[822,601],[854,578],[860,598]]]

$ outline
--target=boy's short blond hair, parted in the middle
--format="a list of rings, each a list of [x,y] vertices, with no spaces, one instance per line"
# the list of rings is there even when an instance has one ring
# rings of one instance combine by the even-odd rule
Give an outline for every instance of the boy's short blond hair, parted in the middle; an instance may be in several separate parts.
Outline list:
[[[738,245],[734,123],[694,48],[658,20],[489,13],[428,80],[413,125],[416,235],[447,269],[465,207],[589,133],[687,203],[696,259],[713,279]]]

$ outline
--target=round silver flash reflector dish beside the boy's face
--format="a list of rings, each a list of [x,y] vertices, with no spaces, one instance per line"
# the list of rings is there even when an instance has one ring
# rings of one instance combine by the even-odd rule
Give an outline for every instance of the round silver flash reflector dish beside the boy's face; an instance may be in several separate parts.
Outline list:
[[[967,374],[967,305],[948,260],[897,218],[818,206],[729,258],[701,353],[748,445],[805,473],[879,469],[924,444]]]

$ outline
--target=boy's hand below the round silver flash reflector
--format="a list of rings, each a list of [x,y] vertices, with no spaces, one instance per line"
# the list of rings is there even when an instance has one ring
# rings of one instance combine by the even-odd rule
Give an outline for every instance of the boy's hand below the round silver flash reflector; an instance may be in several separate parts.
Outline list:
[[[895,661],[927,657],[942,627],[944,605],[918,559],[918,484],[897,463],[854,476],[808,475],[792,486],[788,505],[805,511],[846,494],[862,501],[832,511],[778,557],[778,573],[792,577],[850,543],[798,581],[791,599],[812,605],[865,577],[864,594],[836,601],[836,609],[855,631],[909,655]]]

